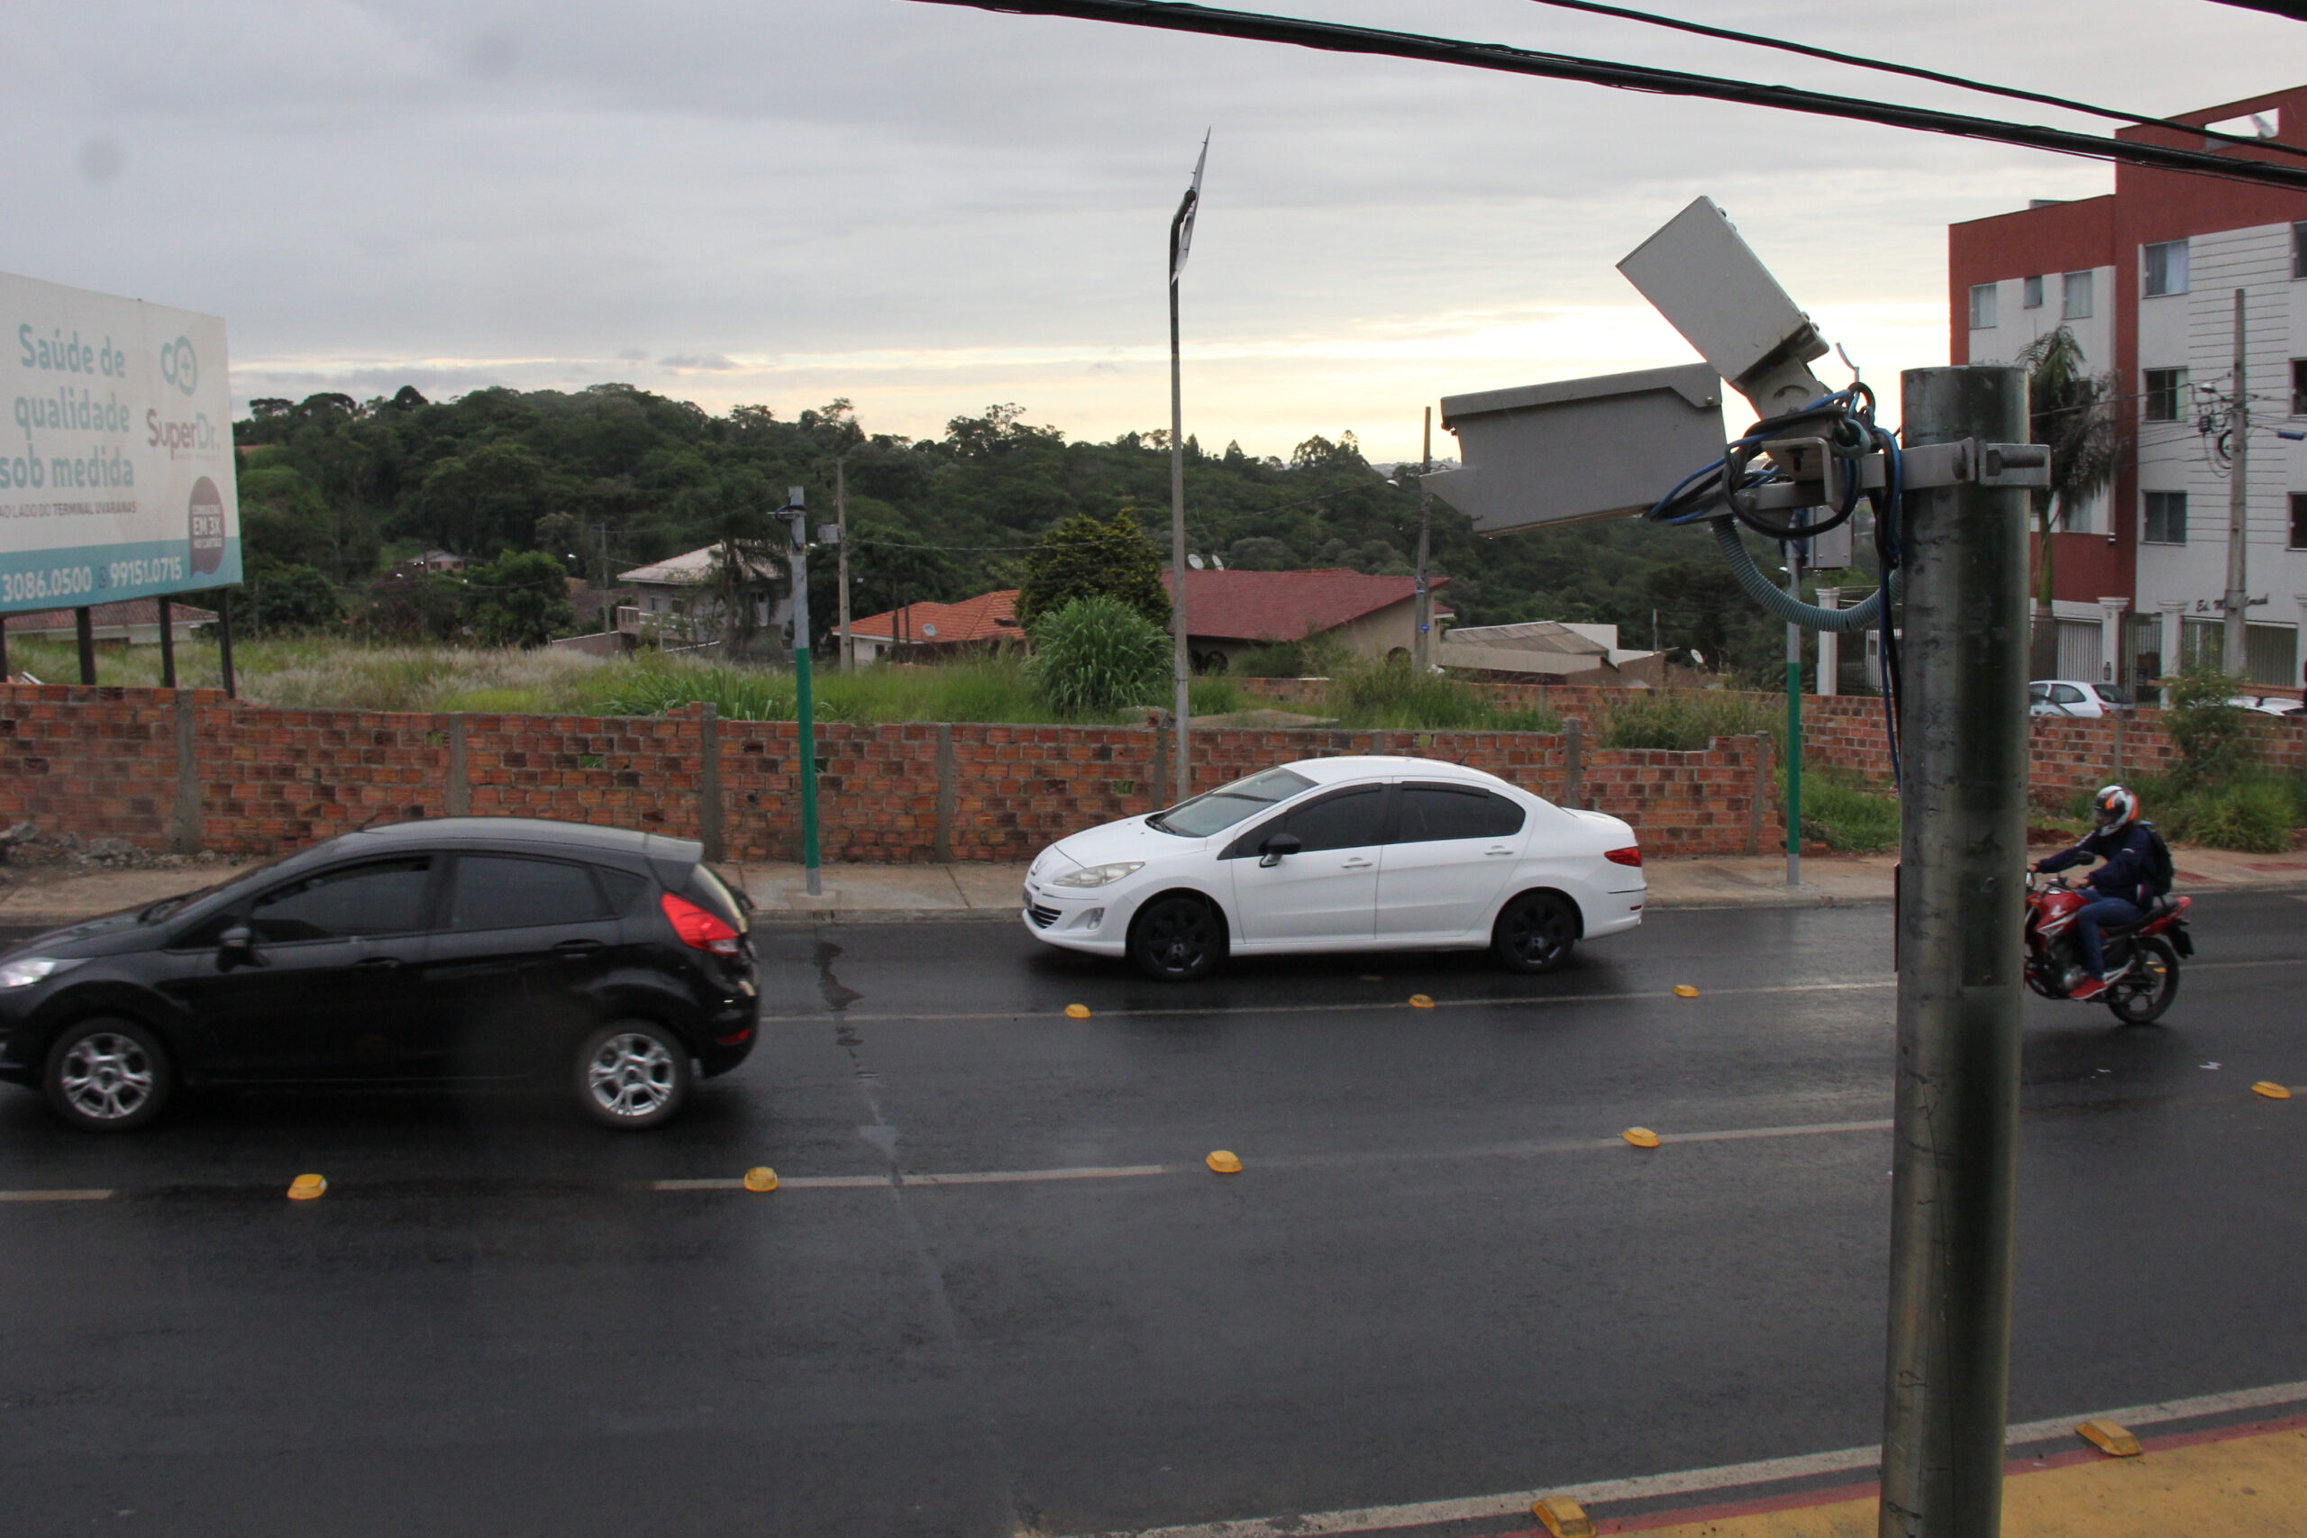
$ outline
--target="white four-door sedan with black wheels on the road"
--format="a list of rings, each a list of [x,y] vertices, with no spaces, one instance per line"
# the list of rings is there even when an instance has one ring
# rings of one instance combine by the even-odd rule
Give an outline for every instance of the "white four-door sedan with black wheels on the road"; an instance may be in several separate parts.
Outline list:
[[[1433,759],[1303,759],[1075,832],[1024,881],[1036,941],[1186,982],[1227,955],[1481,950],[1562,966],[1643,922],[1633,828]]]

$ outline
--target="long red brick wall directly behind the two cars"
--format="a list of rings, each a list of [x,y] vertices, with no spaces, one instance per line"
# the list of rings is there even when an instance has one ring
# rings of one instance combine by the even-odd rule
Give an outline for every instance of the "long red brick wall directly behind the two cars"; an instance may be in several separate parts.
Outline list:
[[[828,862],[1024,860],[1080,828],[1170,800],[1151,729],[828,722]],[[706,745],[713,742],[713,754]],[[1467,763],[1633,823],[1654,855],[1783,842],[1756,807],[1758,742],[1603,752],[1557,733],[1202,731],[1193,784],[1292,759],[1410,754]],[[1571,784],[1576,761],[1576,786]],[[738,860],[801,853],[791,722],[284,710],[215,689],[0,687],[0,821],[148,849],[275,853],[399,816],[556,816],[713,837]],[[717,823],[717,828],[715,828]]]

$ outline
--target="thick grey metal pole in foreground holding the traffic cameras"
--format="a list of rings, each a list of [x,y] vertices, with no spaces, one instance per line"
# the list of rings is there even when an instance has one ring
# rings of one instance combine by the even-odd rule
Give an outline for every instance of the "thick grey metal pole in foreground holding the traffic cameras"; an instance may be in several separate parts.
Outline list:
[[[1910,447],[2028,436],[2026,374],[1903,376]],[[2026,869],[2028,496],[1906,496],[1885,1538],[2002,1522]]]

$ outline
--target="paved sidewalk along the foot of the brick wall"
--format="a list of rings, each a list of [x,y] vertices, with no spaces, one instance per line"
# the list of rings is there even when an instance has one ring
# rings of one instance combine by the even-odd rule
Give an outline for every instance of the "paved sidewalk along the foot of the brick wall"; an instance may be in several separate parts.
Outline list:
[[[2240,855],[2180,844],[2182,892],[2307,892],[2307,851]],[[72,925],[99,913],[226,881],[249,862],[127,872],[18,869],[0,885],[0,927]],[[1802,885],[1786,885],[1786,855],[1652,860],[1650,909],[1839,909],[1889,902],[1892,855],[1804,855]],[[810,897],[798,865],[731,865],[754,902],[754,922],[858,925],[897,920],[1013,922],[1024,865],[828,865]]]

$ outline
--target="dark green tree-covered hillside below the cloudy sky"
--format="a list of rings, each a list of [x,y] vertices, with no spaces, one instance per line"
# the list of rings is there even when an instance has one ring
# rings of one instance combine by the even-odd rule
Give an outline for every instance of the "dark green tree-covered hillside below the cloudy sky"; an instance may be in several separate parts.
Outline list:
[[[318,567],[353,590],[388,553],[431,544],[478,558],[547,549],[598,579],[694,549],[717,514],[777,505],[789,484],[831,523],[835,461],[847,461],[858,613],[1004,586],[1024,546],[1075,512],[1135,507],[1170,542],[1165,433],[1068,443],[1015,406],[907,440],[867,433],[847,401],[780,422],[759,406],[713,417],[632,385],[478,390],[445,404],[401,390],[251,401],[235,440],[251,563]],[[1352,433],[1308,438],[1287,463],[1188,440],[1186,517],[1190,546],[1230,567],[1410,572],[1416,477],[1389,482]],[[1626,646],[1647,646],[1656,613],[1663,646],[1696,646],[1709,662],[1728,653],[1769,678],[1783,657],[1783,632],[1737,595],[1703,530],[1617,521],[1481,540],[1442,500],[1433,530],[1460,625],[1603,620]],[[819,627],[835,606],[831,567],[812,563],[810,574]]]

